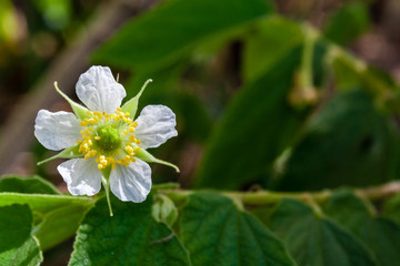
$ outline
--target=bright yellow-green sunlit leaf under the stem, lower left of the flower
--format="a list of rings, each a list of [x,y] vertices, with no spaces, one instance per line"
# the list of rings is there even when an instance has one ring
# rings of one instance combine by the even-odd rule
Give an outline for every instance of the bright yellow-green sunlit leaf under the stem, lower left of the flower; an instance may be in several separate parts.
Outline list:
[[[89,197],[0,193],[0,206],[28,204],[34,215],[34,235],[43,250],[74,235],[84,212],[93,204]]]

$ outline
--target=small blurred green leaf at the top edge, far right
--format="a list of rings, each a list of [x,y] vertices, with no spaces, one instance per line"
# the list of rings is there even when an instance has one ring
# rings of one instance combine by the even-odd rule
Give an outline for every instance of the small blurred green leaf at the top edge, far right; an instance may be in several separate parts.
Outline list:
[[[341,45],[349,44],[370,28],[368,2],[349,1],[332,13],[324,27],[324,35]]]

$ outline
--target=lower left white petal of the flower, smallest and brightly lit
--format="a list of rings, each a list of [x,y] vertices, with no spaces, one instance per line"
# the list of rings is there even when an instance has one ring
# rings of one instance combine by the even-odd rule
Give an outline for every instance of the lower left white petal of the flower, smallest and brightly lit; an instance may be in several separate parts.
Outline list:
[[[72,195],[97,194],[101,188],[101,172],[94,158],[71,158],[57,167]]]

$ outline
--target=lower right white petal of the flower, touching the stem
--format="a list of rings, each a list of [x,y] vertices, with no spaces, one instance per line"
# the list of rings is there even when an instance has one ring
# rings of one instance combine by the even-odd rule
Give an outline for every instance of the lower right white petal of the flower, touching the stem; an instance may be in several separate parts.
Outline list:
[[[139,158],[129,166],[117,164],[110,174],[110,186],[123,202],[143,202],[151,188],[151,168]]]

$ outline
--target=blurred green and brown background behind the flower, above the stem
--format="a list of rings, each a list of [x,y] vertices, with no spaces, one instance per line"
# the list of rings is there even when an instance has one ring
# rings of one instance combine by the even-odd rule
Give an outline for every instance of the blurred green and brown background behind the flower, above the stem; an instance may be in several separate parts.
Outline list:
[[[53,82],[77,100],[79,75],[101,64],[128,99],[153,79],[139,110],[177,114],[178,137],[152,153],[181,173],[153,164],[154,183],[312,191],[399,177],[399,0],[196,4],[1,0],[0,174],[38,174],[67,193],[61,161],[37,166],[54,153],[34,139],[34,117],[69,111]],[[61,249],[53,257],[68,258]]]

